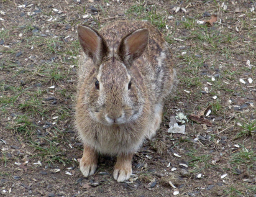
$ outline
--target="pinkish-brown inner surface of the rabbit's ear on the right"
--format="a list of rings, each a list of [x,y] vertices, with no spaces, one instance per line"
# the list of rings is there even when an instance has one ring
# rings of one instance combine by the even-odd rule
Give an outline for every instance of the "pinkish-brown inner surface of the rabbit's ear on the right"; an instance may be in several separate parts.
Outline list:
[[[135,56],[139,56],[145,50],[145,47],[148,43],[148,30],[141,29],[134,33],[132,33],[126,39],[126,46],[128,47],[129,54],[135,54]]]

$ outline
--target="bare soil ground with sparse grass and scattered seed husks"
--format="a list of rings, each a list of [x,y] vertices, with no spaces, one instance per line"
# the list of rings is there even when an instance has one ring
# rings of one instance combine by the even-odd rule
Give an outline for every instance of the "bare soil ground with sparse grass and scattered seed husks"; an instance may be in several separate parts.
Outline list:
[[[161,197],[179,191],[177,196],[255,197],[255,4],[2,0],[1,194]],[[203,21],[211,17],[214,23]],[[80,51],[76,27],[99,29],[125,19],[159,28],[170,43],[179,82],[166,101],[160,130],[133,157],[133,177],[117,183],[115,158],[100,156],[96,173],[84,178],[72,120]],[[178,113],[188,118],[186,132],[168,133],[169,119]]]

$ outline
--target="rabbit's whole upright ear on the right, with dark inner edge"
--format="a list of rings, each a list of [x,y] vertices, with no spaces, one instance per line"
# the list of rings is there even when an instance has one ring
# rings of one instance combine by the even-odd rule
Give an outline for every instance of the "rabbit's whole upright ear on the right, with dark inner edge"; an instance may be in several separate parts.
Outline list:
[[[121,39],[118,47],[118,55],[126,65],[131,66],[133,60],[141,56],[147,44],[148,29],[138,29]]]

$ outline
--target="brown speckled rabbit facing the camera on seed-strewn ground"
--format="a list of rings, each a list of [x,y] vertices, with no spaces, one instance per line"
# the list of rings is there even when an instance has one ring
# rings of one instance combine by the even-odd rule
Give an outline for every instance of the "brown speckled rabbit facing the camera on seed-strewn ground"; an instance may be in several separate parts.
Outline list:
[[[99,31],[78,25],[77,35],[80,171],[94,174],[98,154],[117,156],[113,177],[123,182],[131,176],[134,152],[160,127],[175,85],[172,54],[162,33],[143,21],[115,21]]]

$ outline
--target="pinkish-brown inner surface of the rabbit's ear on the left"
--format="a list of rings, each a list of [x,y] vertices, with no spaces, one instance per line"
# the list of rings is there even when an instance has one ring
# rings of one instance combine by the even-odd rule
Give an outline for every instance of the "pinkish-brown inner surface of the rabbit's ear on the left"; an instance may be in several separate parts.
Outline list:
[[[87,51],[92,54],[97,53],[97,49],[100,45],[100,38],[97,33],[92,31],[90,28],[81,26],[78,36],[85,52]]]

